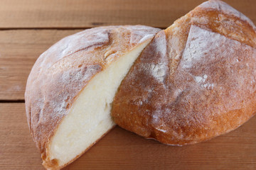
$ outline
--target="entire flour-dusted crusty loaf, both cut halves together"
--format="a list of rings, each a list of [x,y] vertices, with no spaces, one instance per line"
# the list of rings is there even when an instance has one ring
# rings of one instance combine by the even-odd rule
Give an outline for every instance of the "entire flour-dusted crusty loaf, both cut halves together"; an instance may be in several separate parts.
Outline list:
[[[60,40],[38,58],[26,86],[43,165],[70,164],[115,123],[168,145],[238,128],[256,109],[255,47],[252,21],[222,1],[201,4],[166,30],[108,26]]]

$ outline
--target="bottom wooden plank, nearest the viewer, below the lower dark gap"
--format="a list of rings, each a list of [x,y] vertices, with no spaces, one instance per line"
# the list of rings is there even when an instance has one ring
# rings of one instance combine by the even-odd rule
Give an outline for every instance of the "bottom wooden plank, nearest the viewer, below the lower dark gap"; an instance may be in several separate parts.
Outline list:
[[[172,147],[114,128],[65,169],[256,169],[256,117],[197,145]],[[0,103],[0,169],[43,169],[24,103]]]

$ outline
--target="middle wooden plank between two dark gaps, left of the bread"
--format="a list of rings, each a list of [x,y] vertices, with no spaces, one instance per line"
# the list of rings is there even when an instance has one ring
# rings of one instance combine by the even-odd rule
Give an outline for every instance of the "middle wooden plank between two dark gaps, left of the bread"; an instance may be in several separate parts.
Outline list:
[[[41,53],[80,30],[1,30],[0,100],[24,100],[26,79]]]

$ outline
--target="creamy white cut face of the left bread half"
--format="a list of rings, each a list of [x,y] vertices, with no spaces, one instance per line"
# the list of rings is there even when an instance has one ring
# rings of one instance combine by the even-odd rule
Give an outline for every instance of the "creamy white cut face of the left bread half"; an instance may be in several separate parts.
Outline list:
[[[112,62],[80,92],[48,146],[50,160],[65,166],[90,148],[115,125],[110,111],[122,79],[151,39]]]

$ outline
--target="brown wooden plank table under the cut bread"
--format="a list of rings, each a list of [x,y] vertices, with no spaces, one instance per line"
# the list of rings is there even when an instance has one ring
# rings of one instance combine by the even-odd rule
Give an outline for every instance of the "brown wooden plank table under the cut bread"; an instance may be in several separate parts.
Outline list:
[[[66,35],[95,26],[166,28],[201,0],[1,0],[0,169],[43,169],[24,109],[37,57]],[[256,23],[256,1],[229,0]],[[171,147],[114,128],[65,169],[256,169],[256,117],[197,145]]]

